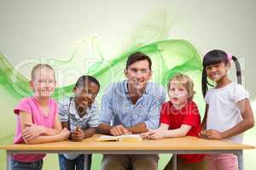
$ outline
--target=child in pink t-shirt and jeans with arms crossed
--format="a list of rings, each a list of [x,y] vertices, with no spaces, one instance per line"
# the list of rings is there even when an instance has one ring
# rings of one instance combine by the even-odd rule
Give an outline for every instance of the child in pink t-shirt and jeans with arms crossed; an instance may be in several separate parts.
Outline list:
[[[30,86],[32,97],[20,100],[15,108],[17,126],[15,144],[39,144],[65,140],[69,131],[61,130],[54,99],[50,98],[55,90],[55,72],[49,65],[36,65],[32,69]],[[11,169],[42,169],[45,154],[15,154],[11,159]]]

